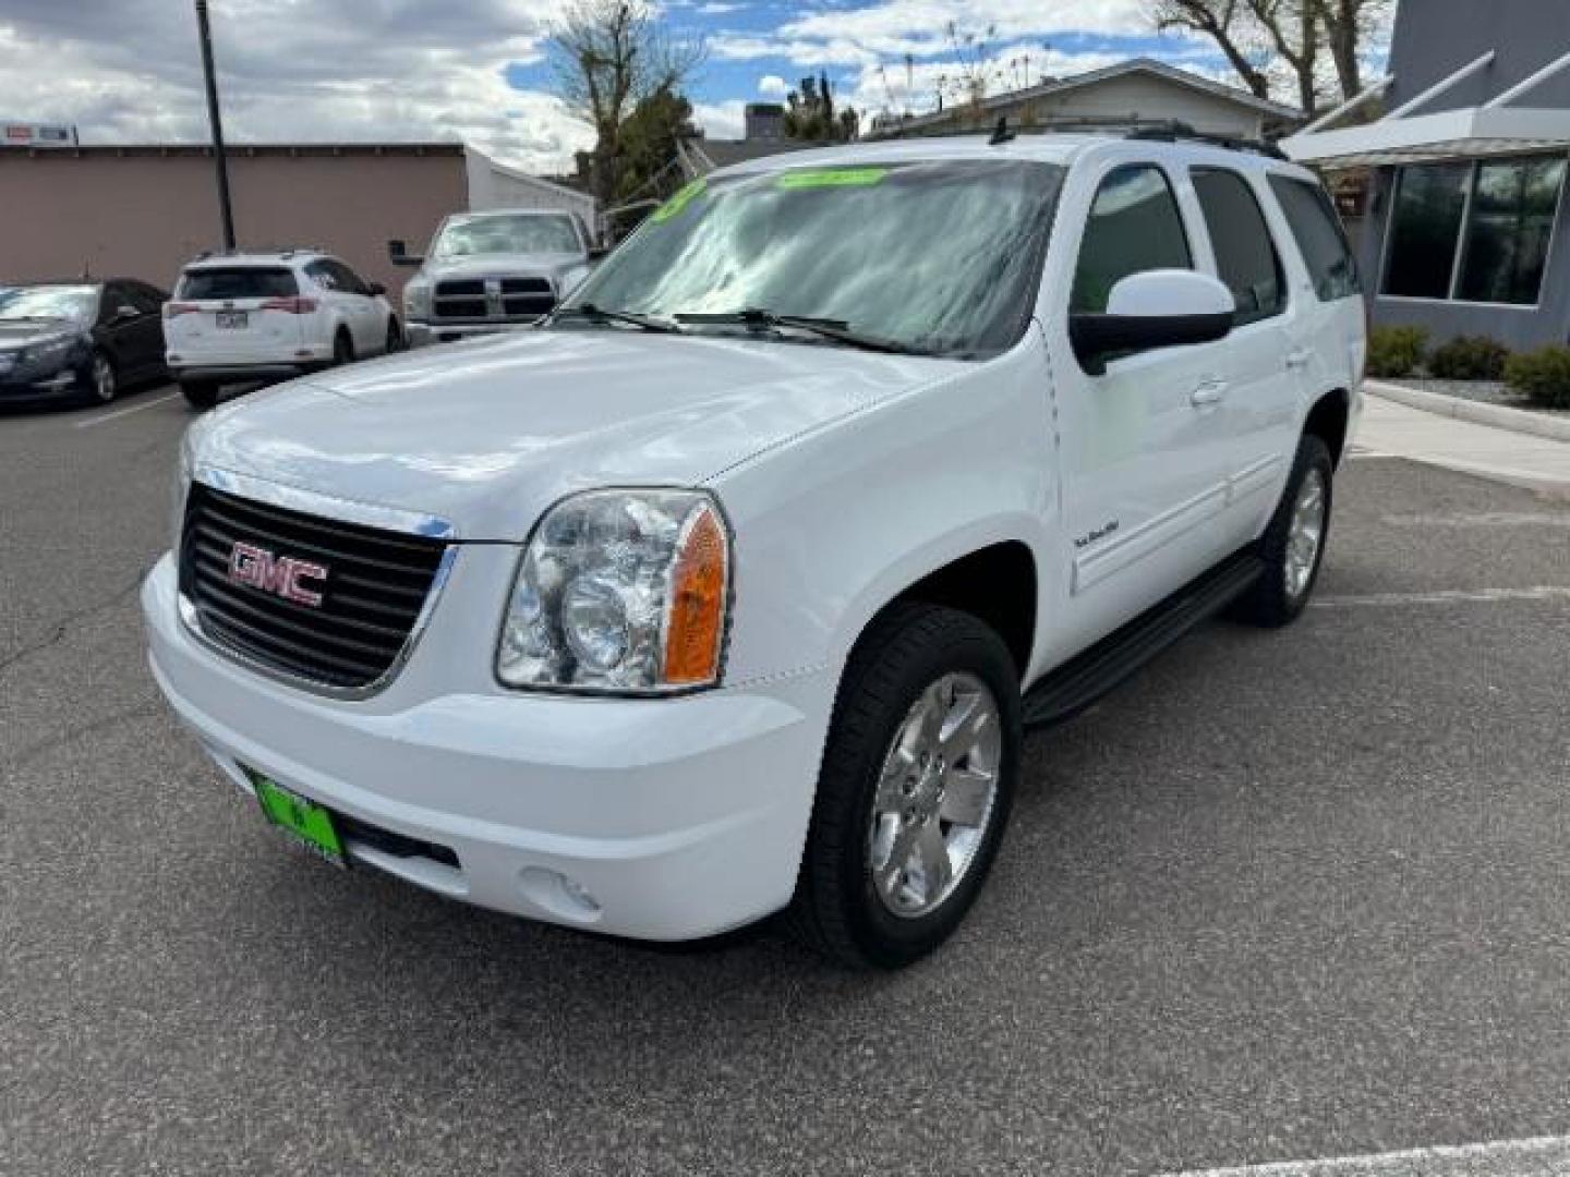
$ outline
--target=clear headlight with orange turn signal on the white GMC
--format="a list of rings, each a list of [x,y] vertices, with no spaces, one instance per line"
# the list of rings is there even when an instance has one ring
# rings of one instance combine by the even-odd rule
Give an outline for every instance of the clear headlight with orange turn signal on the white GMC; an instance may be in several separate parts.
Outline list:
[[[512,687],[593,694],[714,686],[728,609],[730,535],[710,494],[576,494],[534,529],[496,676]]]

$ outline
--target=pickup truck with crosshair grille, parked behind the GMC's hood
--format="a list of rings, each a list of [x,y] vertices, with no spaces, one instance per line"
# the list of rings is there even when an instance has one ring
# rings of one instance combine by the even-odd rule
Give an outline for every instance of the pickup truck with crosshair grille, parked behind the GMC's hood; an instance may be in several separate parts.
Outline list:
[[[447,217],[421,257],[388,242],[397,265],[418,265],[403,287],[410,347],[528,326],[556,309],[598,254],[570,212],[465,212]]]

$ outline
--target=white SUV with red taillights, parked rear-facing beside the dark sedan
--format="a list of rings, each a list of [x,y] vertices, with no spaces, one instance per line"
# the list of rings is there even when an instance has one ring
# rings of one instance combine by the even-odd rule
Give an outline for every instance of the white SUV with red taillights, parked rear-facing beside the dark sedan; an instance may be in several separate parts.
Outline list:
[[[396,352],[403,331],[385,295],[314,250],[201,257],[163,306],[168,367],[195,408],[210,408],[228,383]]]

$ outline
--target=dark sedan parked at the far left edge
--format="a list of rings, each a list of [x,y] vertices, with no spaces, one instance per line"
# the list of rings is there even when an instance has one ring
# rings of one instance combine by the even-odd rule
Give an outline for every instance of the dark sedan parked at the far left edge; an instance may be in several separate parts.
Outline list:
[[[0,403],[107,403],[163,378],[166,300],[133,278],[0,287]]]

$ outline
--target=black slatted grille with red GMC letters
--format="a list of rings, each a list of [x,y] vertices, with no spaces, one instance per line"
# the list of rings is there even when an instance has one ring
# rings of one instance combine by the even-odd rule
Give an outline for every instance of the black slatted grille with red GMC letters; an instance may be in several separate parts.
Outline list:
[[[320,604],[281,584],[232,574],[236,545],[327,573],[303,582]],[[397,664],[425,607],[446,543],[319,518],[193,483],[181,537],[181,593],[212,642],[292,678],[363,689]],[[257,557],[245,562],[256,568]],[[245,579],[270,581],[257,587]]]

